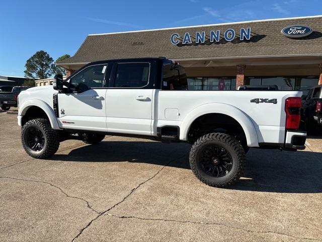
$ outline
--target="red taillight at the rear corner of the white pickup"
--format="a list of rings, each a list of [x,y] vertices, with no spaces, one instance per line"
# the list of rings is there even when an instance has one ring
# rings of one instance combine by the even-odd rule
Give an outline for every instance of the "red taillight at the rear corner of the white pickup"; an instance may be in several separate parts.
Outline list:
[[[302,99],[300,97],[289,97],[285,100],[286,129],[298,129],[301,105]]]

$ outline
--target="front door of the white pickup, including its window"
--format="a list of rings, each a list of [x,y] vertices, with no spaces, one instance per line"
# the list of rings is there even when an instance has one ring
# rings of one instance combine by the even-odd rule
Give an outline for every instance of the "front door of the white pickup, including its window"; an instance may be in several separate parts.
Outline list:
[[[69,79],[70,93],[58,94],[59,125],[106,132],[104,88],[107,64],[89,66]]]

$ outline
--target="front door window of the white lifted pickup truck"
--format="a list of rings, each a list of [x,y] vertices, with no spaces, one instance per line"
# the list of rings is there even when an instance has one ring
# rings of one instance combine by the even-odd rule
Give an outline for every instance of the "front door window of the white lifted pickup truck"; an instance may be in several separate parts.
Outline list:
[[[103,87],[106,68],[107,65],[91,66],[77,73],[70,79],[70,90],[79,92]]]

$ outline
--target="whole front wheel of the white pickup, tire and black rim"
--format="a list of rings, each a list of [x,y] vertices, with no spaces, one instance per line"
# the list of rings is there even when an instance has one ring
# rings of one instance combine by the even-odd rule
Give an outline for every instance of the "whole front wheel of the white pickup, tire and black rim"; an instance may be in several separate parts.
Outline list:
[[[21,141],[28,155],[44,159],[58,150],[59,134],[51,128],[48,119],[36,118],[29,120],[22,128]]]

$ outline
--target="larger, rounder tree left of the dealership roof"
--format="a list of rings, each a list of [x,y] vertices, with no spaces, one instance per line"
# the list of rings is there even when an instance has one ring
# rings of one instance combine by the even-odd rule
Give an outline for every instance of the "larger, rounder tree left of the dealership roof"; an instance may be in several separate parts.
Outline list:
[[[43,50],[31,56],[25,65],[25,77],[29,79],[46,79],[54,73],[54,60]]]

